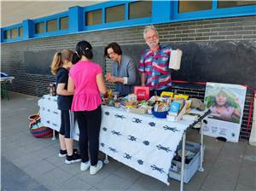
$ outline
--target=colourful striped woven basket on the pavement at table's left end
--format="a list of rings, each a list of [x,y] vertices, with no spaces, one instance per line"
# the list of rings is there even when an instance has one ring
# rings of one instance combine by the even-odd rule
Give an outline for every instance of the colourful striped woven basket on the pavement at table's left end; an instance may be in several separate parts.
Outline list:
[[[49,138],[53,136],[53,130],[49,127],[43,126],[40,123],[40,115],[39,114],[33,114],[28,117],[28,120],[30,121],[29,129],[32,134],[32,136],[35,136],[37,138]]]

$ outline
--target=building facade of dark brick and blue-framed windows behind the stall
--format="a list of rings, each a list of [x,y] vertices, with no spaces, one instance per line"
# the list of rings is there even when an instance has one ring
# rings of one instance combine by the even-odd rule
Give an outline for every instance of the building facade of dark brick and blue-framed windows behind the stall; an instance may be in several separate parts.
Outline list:
[[[151,24],[160,33],[160,43],[183,49],[182,68],[173,73],[177,93],[203,100],[206,82],[247,85],[241,138],[248,139],[256,88],[255,2],[111,1],[22,20],[1,28],[1,70],[15,76],[10,90],[43,96],[55,81],[49,72],[55,51],[74,49],[85,39],[108,72],[104,47],[118,42],[138,62],[146,48],[144,26]]]

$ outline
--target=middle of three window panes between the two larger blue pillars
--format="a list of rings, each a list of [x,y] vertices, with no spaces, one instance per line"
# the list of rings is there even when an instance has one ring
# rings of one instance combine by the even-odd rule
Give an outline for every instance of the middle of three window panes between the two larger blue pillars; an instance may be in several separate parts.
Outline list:
[[[106,22],[125,20],[125,5],[118,5],[106,9]]]

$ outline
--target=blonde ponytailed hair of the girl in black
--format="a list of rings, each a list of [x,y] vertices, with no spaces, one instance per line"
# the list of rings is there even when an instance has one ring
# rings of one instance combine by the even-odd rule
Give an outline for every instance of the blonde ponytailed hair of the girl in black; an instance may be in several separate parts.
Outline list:
[[[50,71],[56,75],[60,67],[63,66],[64,61],[72,61],[73,51],[70,49],[63,49],[61,52],[56,52],[51,62]]]

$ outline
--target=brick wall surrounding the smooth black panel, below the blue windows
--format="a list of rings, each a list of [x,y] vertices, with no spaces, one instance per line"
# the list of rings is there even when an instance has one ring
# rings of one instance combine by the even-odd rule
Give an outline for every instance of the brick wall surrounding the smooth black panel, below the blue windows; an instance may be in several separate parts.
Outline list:
[[[179,23],[167,23],[155,25],[160,33],[160,42],[196,42],[196,41],[255,41],[256,42],[256,16],[195,20]],[[25,42],[2,44],[2,71],[15,76],[14,84],[9,88],[16,92],[42,96],[48,93],[49,82],[55,81],[53,76],[30,74],[26,72],[24,51],[44,49],[74,49],[75,44],[82,39],[89,41],[93,47],[105,46],[109,42],[118,42],[120,45],[144,43],[144,26],[112,29],[101,32],[83,32],[79,34],[65,35],[54,38],[38,38]],[[38,55],[40,56],[40,55]],[[50,63],[45,63],[50,65]],[[110,63],[107,61],[107,72]],[[218,80],[216,81],[218,82]],[[113,85],[108,84],[113,88]],[[190,84],[189,88],[175,88],[177,92],[183,92],[190,96],[203,100],[205,87]],[[253,93],[247,91],[247,101],[244,110],[243,123],[241,125],[241,138],[248,138],[250,128],[247,130],[249,105]]]

